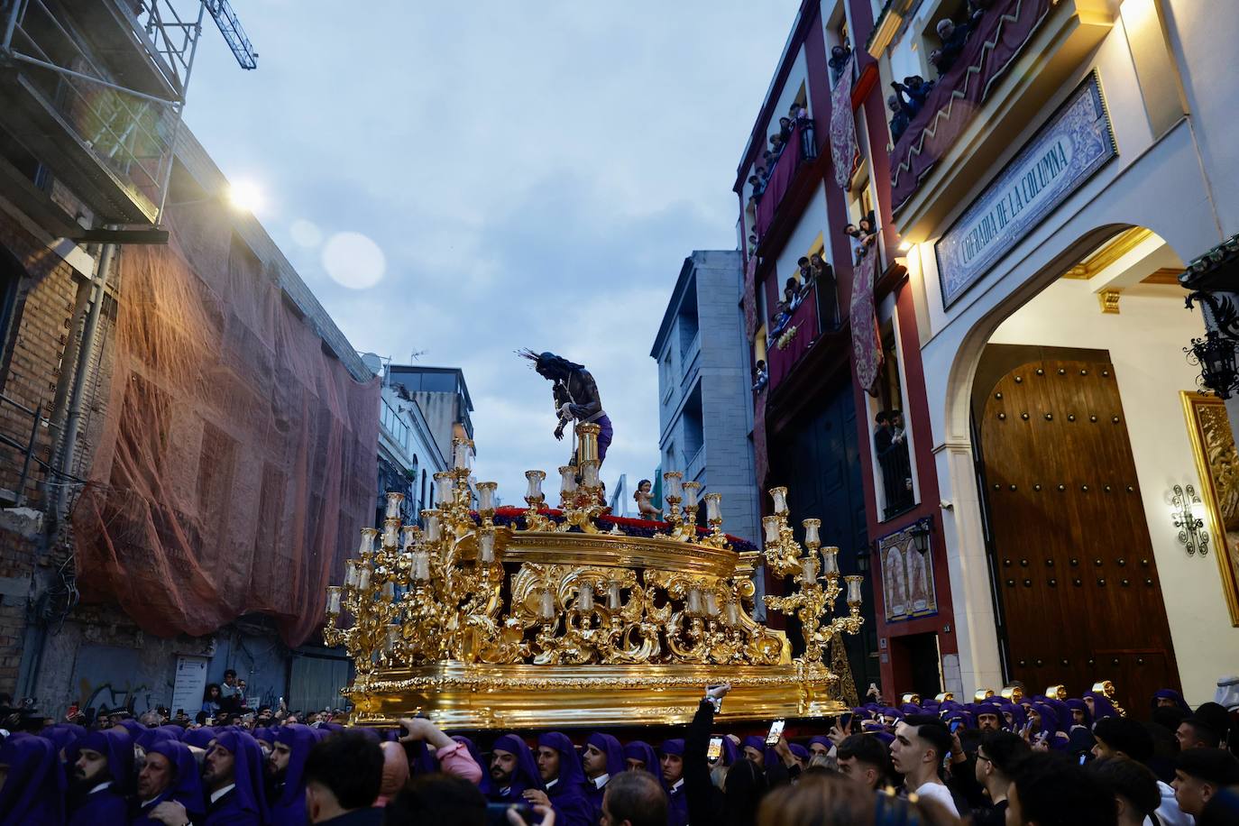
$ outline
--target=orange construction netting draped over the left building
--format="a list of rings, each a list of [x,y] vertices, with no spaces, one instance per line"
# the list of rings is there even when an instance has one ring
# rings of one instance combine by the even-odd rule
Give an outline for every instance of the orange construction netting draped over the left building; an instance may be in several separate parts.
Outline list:
[[[181,217],[169,246],[119,256],[78,586],[161,637],[259,612],[299,645],[374,513],[379,383],[349,375],[218,209]]]

